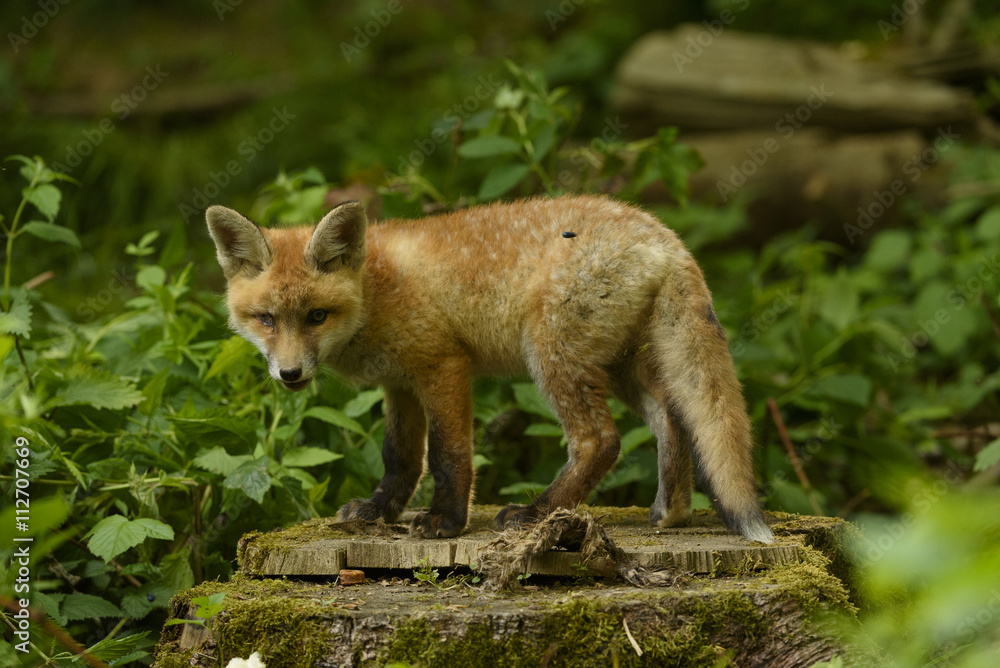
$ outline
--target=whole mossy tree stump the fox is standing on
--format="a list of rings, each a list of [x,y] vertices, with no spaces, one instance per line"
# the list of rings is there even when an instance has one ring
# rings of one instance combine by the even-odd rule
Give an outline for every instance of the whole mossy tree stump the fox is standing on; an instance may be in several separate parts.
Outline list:
[[[192,599],[225,593],[215,636],[169,626],[154,665],[217,666],[259,652],[284,666],[811,666],[852,650],[829,621],[853,617],[835,518],[769,514],[773,545],[725,531],[714,513],[657,529],[645,508],[590,508],[638,567],[668,568],[670,586],[636,587],[580,553],[533,555],[520,586],[486,590],[469,563],[496,539],[495,507],[476,507],[449,540],[411,538],[404,525],[311,520],[243,537],[240,573],[171,602],[193,619]],[[404,518],[405,519],[405,518]],[[343,568],[365,584],[343,586]],[[418,579],[416,575],[419,575]],[[825,621],[824,621],[825,620]]]

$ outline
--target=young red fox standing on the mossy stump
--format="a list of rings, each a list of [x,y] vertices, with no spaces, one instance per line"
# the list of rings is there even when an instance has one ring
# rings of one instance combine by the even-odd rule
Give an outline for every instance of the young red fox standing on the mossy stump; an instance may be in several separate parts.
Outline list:
[[[326,365],[384,390],[385,475],[339,520],[397,521],[429,470],[434,493],[410,533],[459,535],[475,479],[473,378],[527,374],[568,461],[531,503],[504,507],[498,529],[587,499],[619,456],[613,396],[656,438],[652,525],[689,521],[696,464],[725,527],[773,541],[725,330],[694,257],[651,213],[583,195],[374,224],[350,201],[288,228],[213,205],[206,221],[229,324],[275,381],[301,392]]]

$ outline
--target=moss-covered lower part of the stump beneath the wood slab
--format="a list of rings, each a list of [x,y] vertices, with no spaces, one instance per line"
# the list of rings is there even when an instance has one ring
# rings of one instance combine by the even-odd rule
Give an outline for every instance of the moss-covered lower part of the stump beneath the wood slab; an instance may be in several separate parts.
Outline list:
[[[599,517],[601,510],[591,512]],[[838,635],[841,626],[834,620],[851,620],[856,609],[830,572],[843,523],[771,519],[779,540],[797,545],[795,563],[759,570],[754,567],[760,564],[747,563],[725,575],[691,574],[670,587],[534,575],[526,580],[530,586],[499,594],[468,578],[434,586],[390,579],[385,571],[381,581],[351,587],[246,574],[229,583],[203,583],[175,597],[171,613],[191,618],[193,598],[225,592],[225,611],[214,620],[216,637],[191,625],[167,627],[154,665],[218,666],[220,646],[226,661],[260,652],[268,668],[391,663],[781,668],[811,666],[834,655],[850,658],[856,651]],[[713,518],[703,515],[698,521],[711,533]],[[613,525],[607,518],[604,523]],[[412,578],[406,571],[395,575]]]

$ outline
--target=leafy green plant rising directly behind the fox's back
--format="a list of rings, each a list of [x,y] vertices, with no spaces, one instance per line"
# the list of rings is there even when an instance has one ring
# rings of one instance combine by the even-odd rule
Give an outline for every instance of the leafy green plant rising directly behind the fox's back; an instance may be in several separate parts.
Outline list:
[[[701,159],[690,147],[676,142],[676,128],[626,142],[627,125],[609,116],[600,137],[571,146],[569,140],[582,110],[566,102],[569,89],[550,91],[541,72],[524,70],[510,61],[506,65],[514,81],[500,87],[490,107],[458,125],[436,128],[458,137],[453,147],[456,160],[445,177],[445,187],[432,183],[412,163],[390,185],[405,189],[411,198],[448,204],[538,191],[550,195],[587,192],[618,180],[623,181],[620,194],[634,197],[660,181],[678,202],[687,203],[688,175],[701,166]],[[473,191],[476,194],[470,197]]]

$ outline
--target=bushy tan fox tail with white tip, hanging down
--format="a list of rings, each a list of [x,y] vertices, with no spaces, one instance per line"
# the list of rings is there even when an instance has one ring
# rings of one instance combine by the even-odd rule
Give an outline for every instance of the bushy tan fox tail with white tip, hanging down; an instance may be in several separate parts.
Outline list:
[[[671,419],[683,420],[692,452],[726,527],[750,540],[774,540],[757,501],[750,419],[725,332],[701,271],[691,260],[656,302],[653,345],[670,397]]]

